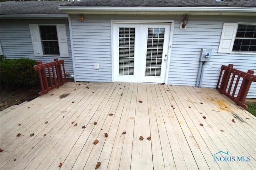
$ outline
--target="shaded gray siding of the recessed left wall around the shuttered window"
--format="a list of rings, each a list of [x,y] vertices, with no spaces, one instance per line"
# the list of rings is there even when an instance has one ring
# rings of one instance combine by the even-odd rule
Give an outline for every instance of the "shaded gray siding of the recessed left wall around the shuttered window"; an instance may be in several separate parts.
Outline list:
[[[35,57],[33,46],[32,46],[29,24],[65,24],[67,40],[68,40],[69,57],[67,58],[61,58],[60,56]],[[1,37],[0,42],[1,42],[2,52],[4,55],[6,55],[7,59],[30,58],[36,61],[42,61],[42,63],[52,62],[54,58],[58,58],[58,60],[64,59],[66,72],[69,72],[70,74],[73,74],[74,72],[73,64],[72,64],[72,53],[71,53],[70,31],[69,31],[68,19],[62,19],[62,20],[1,19],[0,37]]]

